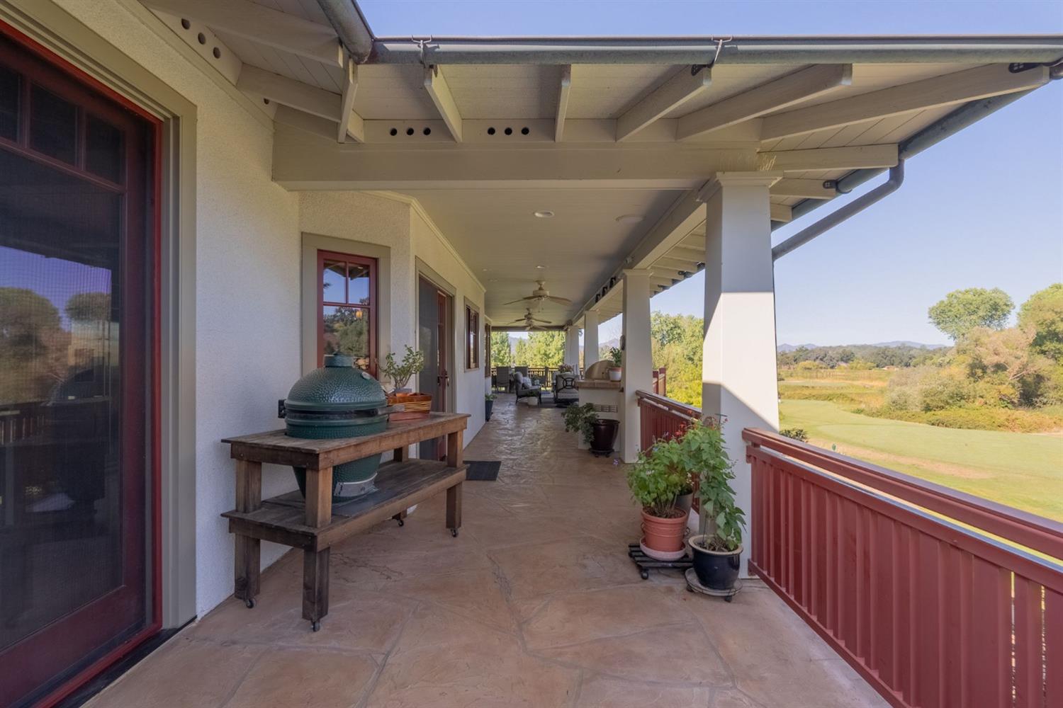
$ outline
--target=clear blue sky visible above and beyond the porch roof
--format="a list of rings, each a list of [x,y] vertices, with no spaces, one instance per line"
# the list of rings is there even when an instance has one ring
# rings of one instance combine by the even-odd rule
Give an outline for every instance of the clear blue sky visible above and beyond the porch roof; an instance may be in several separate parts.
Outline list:
[[[1053,2],[591,2],[360,0],[384,35],[1059,34]],[[1015,304],[1063,280],[1063,81],[909,160],[899,191],[776,263],[789,343],[942,343],[926,310],[958,288]],[[881,179],[881,178],[879,178]],[[853,195],[775,231],[775,241]],[[702,315],[701,275],[653,299]],[[604,341],[619,336],[605,323]]]

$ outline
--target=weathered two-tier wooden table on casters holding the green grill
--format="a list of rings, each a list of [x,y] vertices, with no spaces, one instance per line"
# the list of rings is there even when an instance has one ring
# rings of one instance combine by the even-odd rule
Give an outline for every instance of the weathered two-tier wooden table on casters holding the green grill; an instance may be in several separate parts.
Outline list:
[[[226,437],[236,460],[236,508],[222,516],[236,535],[235,597],[254,607],[259,590],[263,540],[303,549],[303,618],[314,631],[328,614],[330,548],[381,521],[402,523],[406,510],[446,491],[446,528],[461,526],[462,436],[469,416],[432,413],[418,420],[389,422],[387,430],[364,437],[306,439],[283,430]],[[446,461],[409,460],[410,445],[446,436]],[[333,508],[332,470],[354,460],[391,451],[394,461],[381,465],[376,489]],[[306,469],[306,499],[299,491],[263,501],[263,463]]]

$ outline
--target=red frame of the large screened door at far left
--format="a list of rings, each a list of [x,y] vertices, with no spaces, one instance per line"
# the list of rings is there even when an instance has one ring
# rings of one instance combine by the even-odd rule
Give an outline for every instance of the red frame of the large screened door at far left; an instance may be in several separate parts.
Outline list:
[[[81,91],[84,92],[87,88],[89,91],[95,91],[105,99],[121,105],[131,113],[135,114],[139,118],[144,119],[149,123],[149,139],[152,143],[152,149],[154,154],[152,155],[151,165],[149,169],[152,171],[152,177],[154,184],[152,185],[152,191],[148,194],[150,197],[150,204],[148,205],[151,210],[151,221],[150,221],[150,231],[148,234],[149,244],[152,248],[152,259],[148,263],[148,267],[151,269],[150,283],[152,288],[152,317],[149,328],[149,336],[153,347],[153,351],[148,358],[147,364],[150,367],[148,378],[150,381],[150,396],[147,401],[148,405],[148,418],[149,427],[148,431],[148,451],[150,455],[151,472],[149,481],[151,483],[151,496],[149,499],[149,504],[151,508],[152,519],[151,519],[151,554],[152,554],[152,593],[151,593],[151,607],[149,612],[148,625],[141,629],[139,633],[130,637],[123,641],[118,646],[115,646],[111,652],[104,656],[97,659],[91,664],[82,669],[79,673],[71,676],[64,684],[57,686],[50,694],[40,700],[38,704],[41,708],[50,708],[56,705],[65,697],[73,693],[82,685],[86,684],[89,679],[96,675],[103,672],[111,664],[115,663],[118,659],[125,656],[138,645],[142,644],[145,641],[155,636],[163,626],[163,570],[162,570],[162,559],[163,559],[163,541],[162,541],[162,329],[161,329],[161,318],[162,318],[162,185],[163,185],[163,121],[159,120],[155,115],[144,108],[142,106],[134,103],[126,97],[118,93],[113,88],[103,84],[95,76],[90,75],[85,70],[80,67],[74,66],[64,57],[60,56],[52,50],[48,49],[44,45],[40,45],[36,40],[29,37],[27,34],[15,29],[11,24],[0,20],[0,36],[7,37],[13,40],[16,45],[19,45],[22,49],[35,54],[46,64],[51,65],[60,72],[66,74],[67,79],[81,84]],[[100,103],[97,97],[87,97],[88,101],[84,105],[91,105],[97,107],[99,105],[103,106],[101,113],[108,113],[107,109],[114,110],[113,107],[107,106],[105,103]],[[153,134],[153,135],[151,135]],[[21,135],[18,136],[20,139]],[[4,141],[7,142],[7,141]],[[40,155],[34,152],[21,152],[20,154],[26,155],[34,159],[41,159],[46,163],[56,167],[58,169],[70,170],[71,166],[62,162],[61,160],[52,160],[52,158],[47,158],[47,156]],[[54,163],[53,163],[54,162]],[[80,171],[78,176],[82,178],[95,178],[95,180],[104,187],[115,189],[115,185],[108,180],[91,175],[90,173],[84,174]]]

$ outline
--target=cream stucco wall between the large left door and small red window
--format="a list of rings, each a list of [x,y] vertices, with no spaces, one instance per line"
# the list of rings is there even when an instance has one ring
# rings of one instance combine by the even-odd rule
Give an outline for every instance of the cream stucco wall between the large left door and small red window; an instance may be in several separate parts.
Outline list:
[[[197,611],[233,591],[226,435],[275,427],[299,378],[298,197],[271,179],[272,132],[114,0],[57,4],[196,104]],[[168,30],[167,30],[168,31]],[[267,470],[264,493],[294,487]],[[263,545],[263,564],[284,549]]]

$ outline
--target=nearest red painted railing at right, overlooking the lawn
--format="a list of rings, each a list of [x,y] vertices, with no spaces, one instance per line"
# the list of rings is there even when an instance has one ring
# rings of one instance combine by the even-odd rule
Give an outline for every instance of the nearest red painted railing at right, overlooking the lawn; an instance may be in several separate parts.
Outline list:
[[[887,701],[1063,706],[1063,524],[774,433],[743,437],[750,570]]]

